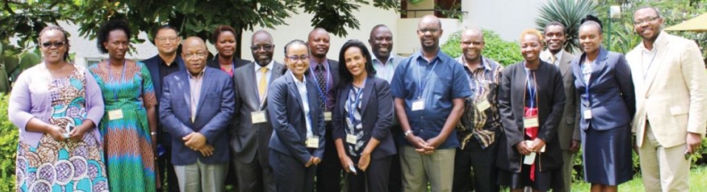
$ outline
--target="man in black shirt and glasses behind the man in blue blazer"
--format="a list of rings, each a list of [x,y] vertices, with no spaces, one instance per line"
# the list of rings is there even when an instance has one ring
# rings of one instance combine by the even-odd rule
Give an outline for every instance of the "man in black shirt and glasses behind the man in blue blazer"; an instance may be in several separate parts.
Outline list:
[[[158,54],[143,62],[147,66],[148,71],[150,71],[157,100],[159,101],[162,97],[163,79],[172,73],[186,69],[184,60],[177,54],[177,49],[182,40],[179,36],[179,32],[177,32],[175,28],[165,25],[156,30],[154,37],[153,43],[157,47]],[[159,113],[160,112],[157,111],[157,114]],[[158,155],[158,169],[156,169],[156,171],[159,173],[160,178],[163,178],[165,175],[167,176],[167,183],[169,184],[168,191],[178,192],[179,185],[177,184],[177,175],[170,161],[172,137],[169,136],[169,133],[163,131],[162,126],[159,124],[157,126],[157,132],[153,132],[151,135],[157,136],[158,145],[160,145],[156,152]],[[158,191],[163,191],[163,189],[158,188]]]

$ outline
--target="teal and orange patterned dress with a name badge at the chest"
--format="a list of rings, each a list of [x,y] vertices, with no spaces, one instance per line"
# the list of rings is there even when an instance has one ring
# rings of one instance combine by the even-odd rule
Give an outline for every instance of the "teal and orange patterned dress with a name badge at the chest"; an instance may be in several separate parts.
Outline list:
[[[105,102],[99,130],[105,143],[110,191],[155,191],[155,155],[144,107],[157,103],[149,71],[141,62],[127,62],[122,71],[111,71],[105,62],[88,70]]]

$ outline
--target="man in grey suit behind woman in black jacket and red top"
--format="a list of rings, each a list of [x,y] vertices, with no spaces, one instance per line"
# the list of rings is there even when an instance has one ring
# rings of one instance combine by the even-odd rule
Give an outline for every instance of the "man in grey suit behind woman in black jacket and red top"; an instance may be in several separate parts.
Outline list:
[[[547,49],[540,53],[540,59],[554,64],[560,68],[562,82],[565,86],[565,107],[562,113],[560,124],[557,126],[557,138],[562,149],[562,173],[564,174],[564,185],[562,191],[570,191],[572,184],[572,165],[574,154],[580,147],[579,126],[577,121],[577,101],[575,98],[574,78],[572,76],[571,61],[574,55],[566,52],[562,48],[567,37],[565,36],[565,25],[553,21],[545,25],[545,44]]]

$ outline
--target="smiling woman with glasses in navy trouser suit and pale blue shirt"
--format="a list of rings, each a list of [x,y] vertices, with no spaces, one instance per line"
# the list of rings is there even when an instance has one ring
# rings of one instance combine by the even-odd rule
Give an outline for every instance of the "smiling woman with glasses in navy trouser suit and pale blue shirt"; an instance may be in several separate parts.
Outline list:
[[[324,155],[325,128],[317,85],[306,76],[309,49],[305,42],[293,40],[285,45],[285,64],[289,71],[272,82],[267,94],[273,127],[269,163],[277,191],[310,192]]]

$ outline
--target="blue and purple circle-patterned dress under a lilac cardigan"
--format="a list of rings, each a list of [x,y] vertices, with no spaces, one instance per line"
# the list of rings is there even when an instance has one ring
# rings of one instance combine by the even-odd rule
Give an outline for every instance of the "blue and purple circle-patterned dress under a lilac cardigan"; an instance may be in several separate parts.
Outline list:
[[[66,78],[49,80],[49,124],[65,128],[86,119],[86,78],[76,67]],[[108,191],[103,149],[90,131],[80,142],[57,141],[44,134],[37,147],[18,143],[17,191]]]

